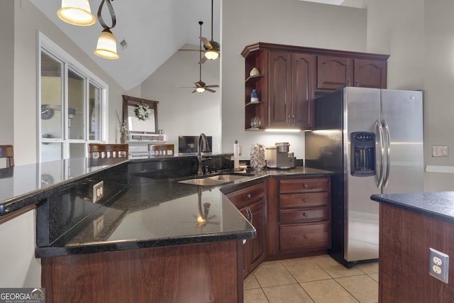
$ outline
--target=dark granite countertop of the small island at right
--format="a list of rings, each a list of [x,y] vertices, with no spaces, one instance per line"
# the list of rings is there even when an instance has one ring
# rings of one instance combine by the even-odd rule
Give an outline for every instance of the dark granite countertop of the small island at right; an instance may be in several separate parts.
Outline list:
[[[454,224],[454,192],[373,194],[370,199]]]

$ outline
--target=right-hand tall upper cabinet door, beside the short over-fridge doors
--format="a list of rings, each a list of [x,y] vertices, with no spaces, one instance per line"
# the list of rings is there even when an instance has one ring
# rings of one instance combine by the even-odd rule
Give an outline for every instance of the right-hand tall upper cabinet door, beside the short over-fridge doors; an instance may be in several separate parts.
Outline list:
[[[292,126],[314,128],[315,56],[292,54]]]

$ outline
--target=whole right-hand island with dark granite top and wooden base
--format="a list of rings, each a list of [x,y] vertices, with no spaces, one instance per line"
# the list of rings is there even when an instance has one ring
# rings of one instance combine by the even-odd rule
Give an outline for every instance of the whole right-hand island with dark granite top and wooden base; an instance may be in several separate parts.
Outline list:
[[[449,282],[428,274],[429,248],[454,256],[454,192],[374,194],[380,202],[379,302],[451,302]]]

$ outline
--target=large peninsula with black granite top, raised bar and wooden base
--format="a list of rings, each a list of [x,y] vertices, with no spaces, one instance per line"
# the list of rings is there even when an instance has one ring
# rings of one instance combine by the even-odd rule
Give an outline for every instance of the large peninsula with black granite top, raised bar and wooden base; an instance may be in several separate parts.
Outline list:
[[[231,165],[230,154],[211,158],[211,164]],[[35,255],[48,302],[242,301],[243,239],[255,237],[255,228],[218,187],[179,182],[194,176],[195,159],[38,164],[35,189],[0,205],[8,215],[38,205]],[[50,167],[60,167],[61,179],[51,180]],[[14,169],[14,178],[21,177],[21,167]],[[224,188],[272,175],[327,173],[262,171]],[[104,197],[94,204],[92,186],[101,181]]]

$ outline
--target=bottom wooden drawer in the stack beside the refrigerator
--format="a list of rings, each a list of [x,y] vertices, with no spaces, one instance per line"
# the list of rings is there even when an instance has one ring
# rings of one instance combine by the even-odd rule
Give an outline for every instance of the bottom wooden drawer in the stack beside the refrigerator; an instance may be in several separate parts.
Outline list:
[[[280,250],[329,248],[329,222],[281,225]]]

